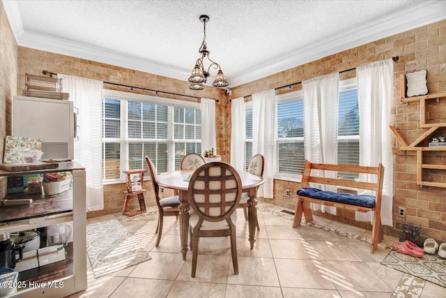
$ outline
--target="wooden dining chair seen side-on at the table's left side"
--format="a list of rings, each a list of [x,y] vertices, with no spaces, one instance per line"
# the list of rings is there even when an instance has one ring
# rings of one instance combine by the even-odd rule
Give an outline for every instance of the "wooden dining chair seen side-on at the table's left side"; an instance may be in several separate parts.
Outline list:
[[[155,246],[158,247],[162,236],[162,220],[164,216],[176,216],[176,219],[178,220],[178,206],[180,206],[180,199],[178,198],[178,195],[164,199],[160,198],[160,186],[158,186],[157,183],[156,167],[147,156],[146,163],[148,171],[151,173],[153,192],[155,193],[155,201],[158,208],[158,223],[155,231],[155,234],[158,234]]]

